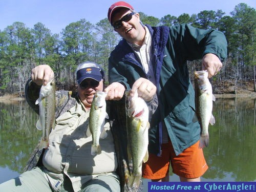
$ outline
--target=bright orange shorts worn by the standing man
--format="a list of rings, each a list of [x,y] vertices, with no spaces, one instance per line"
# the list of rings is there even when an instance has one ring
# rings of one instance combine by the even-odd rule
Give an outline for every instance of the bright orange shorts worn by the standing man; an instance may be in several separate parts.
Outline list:
[[[178,156],[175,155],[173,145],[169,141],[162,144],[161,157],[149,154],[147,162],[142,165],[142,177],[162,179],[169,175],[170,163],[173,173],[187,179],[200,177],[208,169],[203,150],[199,148],[199,141],[186,148]]]

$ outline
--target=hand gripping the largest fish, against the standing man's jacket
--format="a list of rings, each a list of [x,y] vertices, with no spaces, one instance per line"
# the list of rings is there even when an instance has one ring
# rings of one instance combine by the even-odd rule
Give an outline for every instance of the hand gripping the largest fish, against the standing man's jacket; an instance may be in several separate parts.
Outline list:
[[[134,82],[131,96],[134,95],[136,90],[138,90],[139,97],[142,97],[145,101],[151,101],[156,94],[157,88],[153,82],[141,77]]]

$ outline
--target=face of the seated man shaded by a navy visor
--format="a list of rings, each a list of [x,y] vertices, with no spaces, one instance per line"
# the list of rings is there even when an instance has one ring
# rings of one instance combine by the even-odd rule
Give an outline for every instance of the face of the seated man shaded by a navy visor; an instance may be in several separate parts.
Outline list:
[[[91,78],[84,79],[77,87],[77,93],[86,108],[91,108],[96,91],[103,91],[103,79],[96,81]]]

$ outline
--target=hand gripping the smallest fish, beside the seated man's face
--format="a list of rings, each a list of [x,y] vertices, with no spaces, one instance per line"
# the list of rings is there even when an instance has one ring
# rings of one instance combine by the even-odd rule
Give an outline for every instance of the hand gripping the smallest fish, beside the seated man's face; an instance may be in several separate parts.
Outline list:
[[[120,82],[113,82],[104,89],[107,93],[106,100],[120,100],[123,97],[125,87]]]

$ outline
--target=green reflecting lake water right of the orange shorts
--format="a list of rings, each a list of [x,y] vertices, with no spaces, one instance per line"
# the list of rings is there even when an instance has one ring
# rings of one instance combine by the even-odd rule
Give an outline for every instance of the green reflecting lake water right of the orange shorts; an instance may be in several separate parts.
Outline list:
[[[207,179],[254,181],[255,99],[217,99],[214,103],[216,124],[209,126],[210,143],[204,149],[209,170]]]

